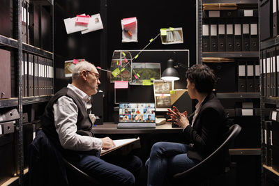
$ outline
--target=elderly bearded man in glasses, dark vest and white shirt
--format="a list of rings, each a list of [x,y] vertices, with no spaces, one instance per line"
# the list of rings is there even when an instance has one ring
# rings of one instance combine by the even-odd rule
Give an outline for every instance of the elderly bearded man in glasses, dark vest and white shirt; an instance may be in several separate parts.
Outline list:
[[[42,118],[43,131],[63,157],[100,183],[135,185],[133,174],[142,167],[139,157],[130,155],[114,161],[100,158],[100,149],[112,148],[114,142],[109,137],[94,137],[93,122],[87,113],[86,103],[98,91],[99,76],[93,64],[77,63],[72,84],[62,88],[48,102]]]

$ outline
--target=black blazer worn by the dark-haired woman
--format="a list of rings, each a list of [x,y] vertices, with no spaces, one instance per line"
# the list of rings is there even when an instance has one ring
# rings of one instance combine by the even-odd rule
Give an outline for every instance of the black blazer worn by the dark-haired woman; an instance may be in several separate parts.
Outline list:
[[[188,150],[188,157],[202,161],[222,144],[229,126],[224,108],[213,93],[202,102],[192,127],[193,116],[194,113],[188,116],[190,125],[183,131],[183,137],[187,144],[193,144],[193,148]]]

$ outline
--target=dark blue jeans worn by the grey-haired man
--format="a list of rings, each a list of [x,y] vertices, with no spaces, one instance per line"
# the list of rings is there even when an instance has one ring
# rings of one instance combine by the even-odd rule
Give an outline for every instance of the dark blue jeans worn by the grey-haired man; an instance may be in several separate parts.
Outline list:
[[[94,155],[79,156],[75,165],[103,185],[135,185],[135,176],[142,168],[142,160],[135,155],[108,156],[105,160]]]

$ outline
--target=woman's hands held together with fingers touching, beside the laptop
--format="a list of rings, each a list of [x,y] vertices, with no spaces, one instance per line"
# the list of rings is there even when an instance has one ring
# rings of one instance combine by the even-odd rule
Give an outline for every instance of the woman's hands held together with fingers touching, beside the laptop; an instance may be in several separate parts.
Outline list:
[[[183,114],[179,112],[179,110],[173,106],[173,109],[167,109],[167,115],[170,116],[170,119],[167,121],[172,121],[174,124],[179,125],[179,127],[187,127],[189,125],[189,121],[187,118],[187,111],[184,111]]]

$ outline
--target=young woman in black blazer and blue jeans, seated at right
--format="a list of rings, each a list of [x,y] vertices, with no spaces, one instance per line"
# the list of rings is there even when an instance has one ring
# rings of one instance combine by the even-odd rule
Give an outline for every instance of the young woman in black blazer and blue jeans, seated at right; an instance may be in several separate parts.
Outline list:
[[[198,101],[195,113],[188,116],[187,111],[181,113],[176,107],[167,113],[168,121],[182,127],[185,141],[158,142],[152,146],[146,161],[147,185],[163,185],[168,176],[195,166],[216,150],[228,131],[223,106],[212,93],[216,83],[213,71],[206,65],[193,65],[187,70],[186,79],[190,98]]]

